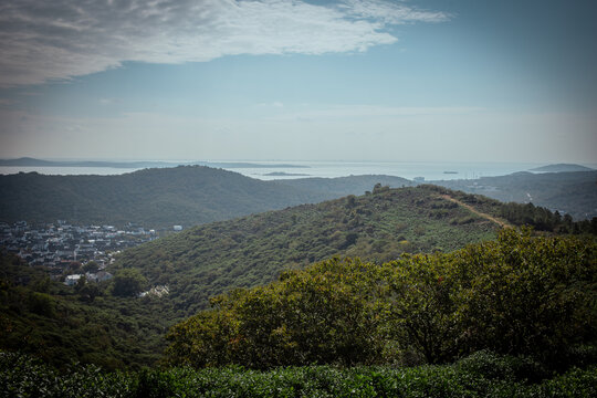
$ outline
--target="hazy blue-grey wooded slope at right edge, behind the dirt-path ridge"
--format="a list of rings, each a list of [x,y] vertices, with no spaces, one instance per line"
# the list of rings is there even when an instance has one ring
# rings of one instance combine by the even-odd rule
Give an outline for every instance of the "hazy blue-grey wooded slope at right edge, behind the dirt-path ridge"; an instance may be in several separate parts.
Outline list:
[[[597,171],[515,172],[475,180],[432,181],[450,189],[481,193],[503,202],[532,202],[577,220],[597,217]]]

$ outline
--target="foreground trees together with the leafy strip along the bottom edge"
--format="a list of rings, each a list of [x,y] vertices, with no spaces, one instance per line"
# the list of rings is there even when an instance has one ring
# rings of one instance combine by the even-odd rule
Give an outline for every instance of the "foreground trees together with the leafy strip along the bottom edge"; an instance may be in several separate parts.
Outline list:
[[[216,298],[172,329],[169,368],[59,371],[4,352],[0,392],[594,397],[596,251],[589,238],[509,229],[449,254],[333,259]]]

